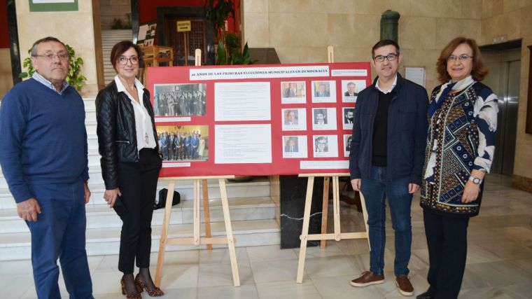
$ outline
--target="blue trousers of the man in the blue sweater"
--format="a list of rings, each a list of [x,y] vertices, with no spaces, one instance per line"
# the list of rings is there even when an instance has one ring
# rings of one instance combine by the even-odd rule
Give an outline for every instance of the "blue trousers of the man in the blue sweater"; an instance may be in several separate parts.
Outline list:
[[[83,181],[30,185],[41,214],[27,221],[31,232],[31,265],[38,298],[60,299],[59,267],[70,298],[93,298],[85,251]]]

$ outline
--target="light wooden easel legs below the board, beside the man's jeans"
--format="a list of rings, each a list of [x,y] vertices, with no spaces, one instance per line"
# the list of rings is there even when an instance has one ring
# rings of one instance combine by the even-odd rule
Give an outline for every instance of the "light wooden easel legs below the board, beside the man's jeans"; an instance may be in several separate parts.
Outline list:
[[[301,232],[301,246],[300,246],[300,256],[299,263],[297,264],[297,283],[301,284],[303,281],[303,270],[304,270],[304,260],[307,254],[307,241],[317,241],[317,240],[336,240],[341,239],[367,239],[367,244],[369,245],[369,239],[367,238],[367,211],[365,209],[364,197],[360,194],[360,202],[362,204],[362,211],[365,224],[365,232],[340,232],[340,211],[339,211],[339,176],[349,176],[349,173],[338,173],[338,174],[300,174],[300,177],[308,177],[309,181],[307,183],[307,196],[305,197],[304,202],[304,213],[303,213],[303,228]],[[314,189],[314,178],[316,176],[323,176],[325,178],[326,184],[328,187],[328,179],[332,178],[332,210],[335,223],[335,232],[334,233],[320,233],[309,235],[309,222],[310,222],[310,207],[312,203],[312,190]],[[325,190],[324,190],[325,192]],[[327,188],[328,192],[328,188]],[[323,204],[323,211],[327,210],[325,203]],[[323,215],[322,215],[323,217]],[[323,218],[322,218],[323,219]],[[323,221],[323,220],[322,220]],[[327,218],[325,216],[325,221]],[[321,223],[323,229],[323,223]],[[327,228],[327,223],[325,222],[325,229]]]

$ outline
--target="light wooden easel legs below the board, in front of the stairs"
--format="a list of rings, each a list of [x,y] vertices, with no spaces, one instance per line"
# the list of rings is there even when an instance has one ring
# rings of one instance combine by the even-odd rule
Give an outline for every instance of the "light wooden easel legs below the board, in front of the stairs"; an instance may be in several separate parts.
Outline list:
[[[229,215],[229,204],[228,204],[228,193],[225,188],[225,179],[234,179],[235,176],[188,176],[188,177],[167,177],[160,178],[162,181],[169,181],[168,183],[168,194],[167,202],[165,206],[165,218],[162,222],[162,232],[161,239],[159,243],[159,255],[157,258],[157,269],[155,271],[155,285],[160,286],[161,274],[162,274],[162,265],[165,263],[165,251],[167,244],[194,244],[199,246],[201,244],[228,244],[229,256],[231,260],[231,270],[233,276],[233,282],[235,286],[240,286],[240,277],[238,274],[238,265],[237,265],[237,253],[235,252],[235,238],[232,235],[232,226],[231,218]],[[207,179],[218,179],[220,185],[220,194],[222,197],[222,209],[223,209],[223,219],[225,221],[225,232],[227,237],[201,237],[200,235],[200,181],[204,181],[203,189],[204,195]],[[174,198],[174,188],[176,181],[193,181],[193,197],[194,197],[194,232],[193,237],[189,238],[168,238],[168,227],[170,224],[170,215],[172,214],[172,200]],[[205,202],[205,197],[204,197]],[[209,205],[204,205],[204,211],[209,210]],[[206,217],[207,221],[207,217]],[[206,223],[207,225],[207,223]],[[210,234],[209,234],[210,235]]]

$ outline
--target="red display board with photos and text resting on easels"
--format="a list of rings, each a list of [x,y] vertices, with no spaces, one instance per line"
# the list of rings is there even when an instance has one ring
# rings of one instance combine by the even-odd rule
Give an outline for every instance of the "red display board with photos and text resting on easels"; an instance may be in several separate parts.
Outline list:
[[[158,133],[190,136],[181,151],[158,136],[160,175],[348,172],[353,92],[370,84],[369,62],[150,67]]]

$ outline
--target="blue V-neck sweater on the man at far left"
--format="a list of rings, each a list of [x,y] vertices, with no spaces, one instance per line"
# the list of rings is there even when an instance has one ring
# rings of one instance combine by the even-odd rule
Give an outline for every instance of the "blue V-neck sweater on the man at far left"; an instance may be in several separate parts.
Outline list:
[[[78,92],[68,87],[59,95],[33,78],[15,85],[0,106],[0,165],[16,202],[34,197],[32,184],[89,179]]]

